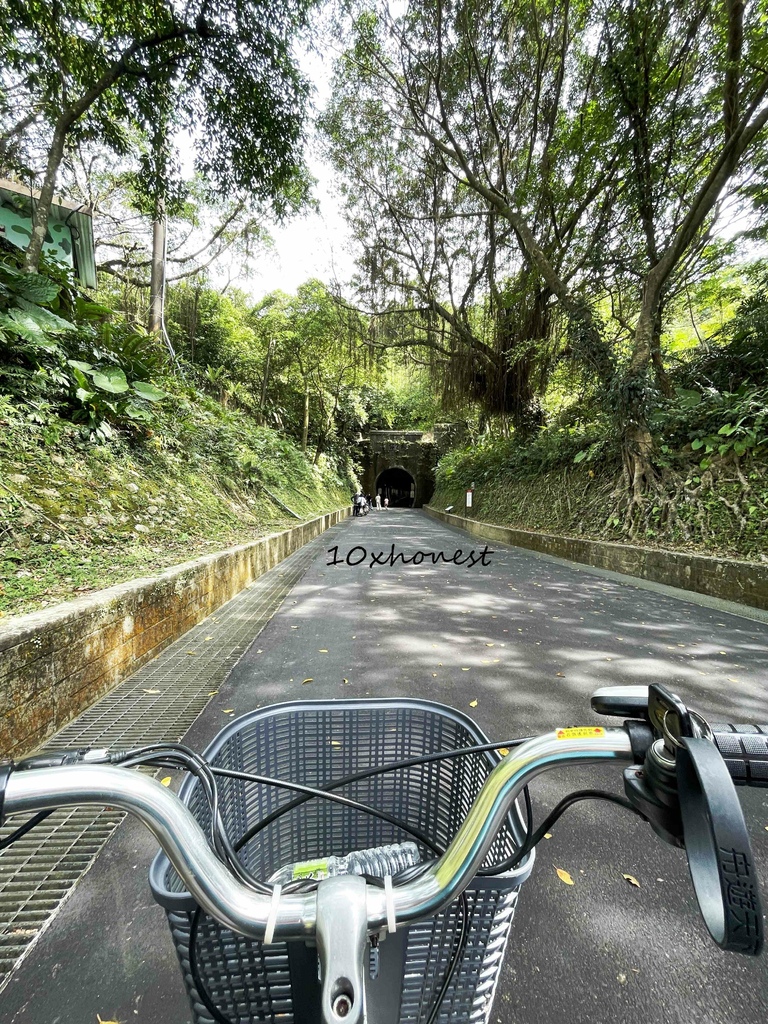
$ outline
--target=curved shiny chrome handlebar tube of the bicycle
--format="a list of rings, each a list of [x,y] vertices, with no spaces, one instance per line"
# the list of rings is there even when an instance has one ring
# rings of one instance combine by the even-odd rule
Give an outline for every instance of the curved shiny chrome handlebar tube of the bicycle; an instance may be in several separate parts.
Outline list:
[[[386,927],[388,898],[398,924],[432,916],[456,899],[477,873],[523,786],[537,775],[574,764],[632,760],[629,736],[621,728],[560,729],[511,751],[488,775],[446,852],[422,877],[394,887],[391,897],[384,889],[366,887],[369,934]],[[281,894],[275,906],[269,896],[249,889],[218,859],[178,797],[138,772],[101,765],[12,772],[4,811],[34,813],[84,804],[120,807],[139,818],[199,906],[232,931],[263,939],[269,923],[275,939],[314,935],[316,893]]]

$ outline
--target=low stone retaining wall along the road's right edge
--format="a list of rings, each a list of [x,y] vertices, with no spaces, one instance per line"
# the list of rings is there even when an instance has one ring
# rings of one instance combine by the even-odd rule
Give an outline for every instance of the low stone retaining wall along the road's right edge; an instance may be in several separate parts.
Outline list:
[[[625,572],[627,575],[652,580],[669,587],[693,590],[724,601],[768,608],[768,564],[495,526],[488,522],[438,512],[428,505],[424,506],[424,511],[435,519],[452,526],[461,526],[486,541],[501,541],[517,548],[528,548],[558,558],[568,558],[573,562]]]

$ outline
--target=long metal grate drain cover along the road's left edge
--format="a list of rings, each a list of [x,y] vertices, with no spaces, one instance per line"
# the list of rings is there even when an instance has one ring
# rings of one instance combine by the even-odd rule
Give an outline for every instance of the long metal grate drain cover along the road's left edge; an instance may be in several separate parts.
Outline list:
[[[305,545],[193,627],[44,749],[181,739],[211,699],[211,690],[304,574],[318,542]],[[90,807],[56,811],[0,855],[0,991],[123,817],[123,812]],[[23,820],[9,817],[0,838]]]

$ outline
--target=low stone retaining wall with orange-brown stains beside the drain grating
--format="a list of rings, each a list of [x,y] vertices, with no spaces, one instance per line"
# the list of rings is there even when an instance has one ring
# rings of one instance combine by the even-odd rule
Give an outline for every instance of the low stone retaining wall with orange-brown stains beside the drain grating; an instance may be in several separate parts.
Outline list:
[[[0,624],[0,757],[39,746],[253,580],[349,514]]]

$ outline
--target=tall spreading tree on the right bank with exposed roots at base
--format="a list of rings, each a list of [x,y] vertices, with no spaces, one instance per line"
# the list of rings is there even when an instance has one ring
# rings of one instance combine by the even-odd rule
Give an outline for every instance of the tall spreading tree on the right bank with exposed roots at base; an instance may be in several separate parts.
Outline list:
[[[382,2],[342,60],[388,131],[510,228],[600,383],[634,501],[653,482],[665,301],[764,155],[765,19],[765,0]],[[606,283],[628,296],[609,324]]]

